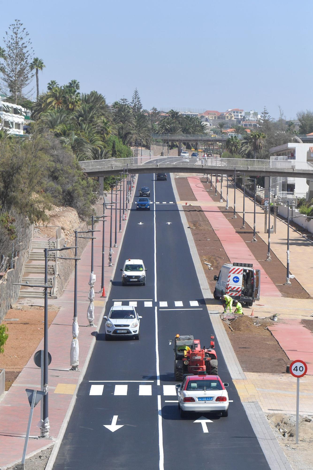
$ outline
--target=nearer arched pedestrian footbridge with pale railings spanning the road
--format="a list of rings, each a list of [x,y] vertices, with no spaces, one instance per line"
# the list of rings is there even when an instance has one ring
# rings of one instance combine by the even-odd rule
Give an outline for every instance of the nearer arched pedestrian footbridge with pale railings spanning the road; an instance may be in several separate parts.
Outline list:
[[[313,179],[313,163],[296,160],[252,160],[246,158],[208,157],[130,157],[79,162],[88,176],[104,177],[124,170],[129,173],[203,173],[253,176],[285,176]]]

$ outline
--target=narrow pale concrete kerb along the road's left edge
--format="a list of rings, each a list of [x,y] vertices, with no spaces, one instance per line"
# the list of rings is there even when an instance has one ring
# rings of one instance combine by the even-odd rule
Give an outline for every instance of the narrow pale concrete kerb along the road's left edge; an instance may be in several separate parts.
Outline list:
[[[135,180],[135,188],[133,188],[133,194],[135,194],[135,191],[136,191],[136,188],[137,188],[137,178]],[[114,275],[115,275],[115,270],[116,270],[116,265],[117,265],[117,262],[118,262],[118,259],[119,259],[119,256],[120,256],[120,251],[121,251],[121,247],[122,247],[122,243],[123,243],[123,239],[124,239],[124,235],[125,235],[125,232],[126,232],[126,227],[127,227],[127,223],[128,223],[128,220],[129,220],[129,217],[127,218],[127,220],[125,221],[125,225],[124,225],[124,230],[123,230],[123,233],[122,233],[122,237],[121,237],[121,241],[120,241],[120,244],[119,244],[119,248],[118,248],[118,252],[117,252],[117,256],[116,256],[116,259],[115,259],[115,265],[113,267],[113,271],[112,271],[112,276],[111,276],[111,281],[113,280],[114,278]],[[110,282],[109,284],[109,287],[107,289],[107,298],[109,297],[109,294],[110,294],[110,290],[111,290],[111,287],[112,287],[112,282]],[[105,308],[106,308],[106,304],[107,304],[107,298],[105,299],[105,304],[103,306],[103,309],[101,310],[101,313],[100,313],[100,317],[99,317],[99,322],[98,322],[98,325],[97,325],[97,333],[99,333],[99,328],[100,328],[100,325],[101,325],[101,322],[102,322],[102,319],[103,319],[103,314],[105,312]],[[66,415],[64,417],[64,420],[63,420],[63,423],[61,425],[61,429],[59,431],[59,434],[58,434],[58,437],[57,438],[54,438],[54,445],[53,443],[50,443],[48,444],[47,446],[44,446],[42,447],[41,449],[37,449],[35,450],[34,452],[32,452],[31,454],[27,454],[26,455],[26,459],[29,459],[31,458],[33,455],[37,454],[38,452],[40,451],[43,451],[45,449],[47,449],[48,447],[51,447],[53,446],[53,450],[50,454],[50,457],[48,459],[48,462],[46,464],[46,469],[45,470],[52,470],[53,469],[53,465],[54,465],[54,462],[55,462],[55,459],[57,457],[57,454],[59,452],[59,449],[60,449],[60,446],[61,446],[61,442],[62,442],[62,439],[63,439],[63,436],[64,436],[64,433],[66,431],[66,428],[67,428],[67,425],[69,423],[69,418],[72,414],[72,411],[73,411],[73,408],[74,408],[74,405],[75,405],[75,402],[76,402],[76,396],[77,396],[77,392],[78,392],[78,388],[79,388],[79,385],[81,384],[81,382],[83,381],[84,379],[84,375],[86,373],[86,370],[87,370],[87,367],[88,367],[88,364],[89,364],[89,361],[90,361],[90,358],[92,356],[92,351],[93,351],[93,348],[94,348],[94,345],[96,344],[96,337],[92,337],[92,343],[89,347],[89,351],[88,351],[88,354],[86,356],[86,360],[84,362],[84,366],[82,368],[82,371],[78,377],[78,382],[77,382],[77,385],[76,385],[76,389],[75,389],[75,392],[73,394],[73,397],[69,403],[69,408],[68,408],[68,411],[66,412]],[[10,467],[12,467],[13,465],[16,465],[17,463],[21,462],[21,460],[18,460],[16,462],[13,462],[13,463],[10,463],[8,465],[6,465],[5,467],[1,467],[0,470],[6,470]]]

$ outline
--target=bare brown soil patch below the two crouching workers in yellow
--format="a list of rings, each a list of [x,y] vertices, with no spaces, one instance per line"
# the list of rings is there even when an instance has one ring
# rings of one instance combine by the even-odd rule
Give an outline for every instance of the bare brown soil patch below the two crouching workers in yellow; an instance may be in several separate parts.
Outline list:
[[[223,321],[241,367],[245,372],[270,374],[286,372],[290,360],[267,329],[267,326],[275,322],[267,318],[258,321],[261,323],[260,326],[256,326],[255,323],[257,317],[242,315],[230,321],[230,326],[234,330],[231,331],[228,324]]]

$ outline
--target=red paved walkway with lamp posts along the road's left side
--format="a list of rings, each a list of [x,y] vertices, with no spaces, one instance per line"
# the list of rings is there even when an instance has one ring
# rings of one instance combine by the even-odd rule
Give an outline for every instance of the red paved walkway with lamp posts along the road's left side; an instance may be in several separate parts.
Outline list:
[[[137,181],[137,180],[136,180]],[[135,194],[136,188],[132,191]],[[130,207],[130,205],[129,205]],[[106,215],[110,211],[106,210]],[[119,217],[119,211],[118,217]],[[128,211],[128,216],[130,212]],[[113,241],[114,241],[114,215],[113,211]],[[109,252],[109,217],[106,219],[105,227],[105,289],[109,289],[110,279],[113,273],[113,267],[108,265]],[[118,219],[119,224],[119,219]],[[117,230],[119,225],[117,224]],[[124,231],[126,222],[122,222],[122,231]],[[105,305],[105,299],[101,298],[98,292],[101,287],[101,254],[102,254],[102,223],[96,227],[100,232],[96,232],[97,239],[94,241],[94,273],[96,274],[95,283],[95,324],[101,321],[101,312]],[[123,232],[117,234],[117,244],[120,241]],[[114,248],[112,256],[113,264],[118,254],[118,248]],[[55,305],[61,305],[61,309],[54,318],[49,328],[49,347],[52,361],[49,366],[49,420],[50,420],[50,436],[57,438],[65,415],[68,411],[69,404],[73,398],[73,392],[78,383],[81,371],[84,367],[88,351],[92,343],[95,341],[95,328],[87,327],[87,307],[89,305],[89,275],[91,269],[91,242],[88,243],[84,250],[81,260],[78,262],[78,279],[77,279],[77,316],[79,324],[79,371],[69,371],[70,368],[70,344],[72,340],[72,321],[73,321],[73,298],[74,298],[74,272],[62,296],[56,300],[50,301]],[[43,340],[36,348],[36,351],[43,349]],[[58,384],[70,384],[72,390],[63,387],[63,391],[54,393]],[[4,398],[0,401],[0,467],[7,466],[9,463],[21,460],[23,454],[23,446],[25,439],[30,406],[26,396],[25,388],[40,389],[40,369],[35,366],[33,356],[23,368],[20,375],[15,380]],[[60,387],[59,387],[60,390]],[[40,405],[34,410],[33,420],[31,424],[31,436],[38,436],[40,430],[37,424],[40,420]],[[27,454],[31,454],[39,450],[53,441],[47,439],[30,439],[27,447]]]

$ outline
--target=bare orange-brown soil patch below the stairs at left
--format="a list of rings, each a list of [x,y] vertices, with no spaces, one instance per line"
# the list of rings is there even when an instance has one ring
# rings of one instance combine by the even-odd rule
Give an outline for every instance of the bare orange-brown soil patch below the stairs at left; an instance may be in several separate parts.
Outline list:
[[[6,390],[27,364],[44,336],[44,308],[30,305],[21,307],[8,310],[1,323],[7,325],[9,335],[4,353],[0,356],[0,368],[6,370]],[[49,326],[58,311],[59,307],[49,305]]]

